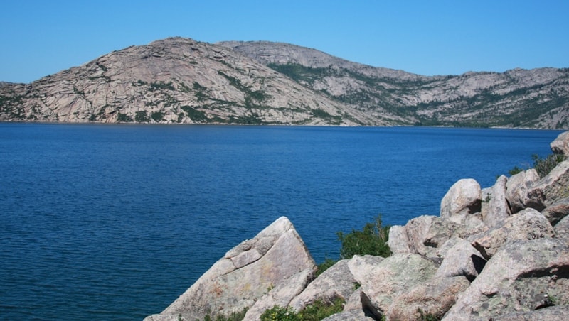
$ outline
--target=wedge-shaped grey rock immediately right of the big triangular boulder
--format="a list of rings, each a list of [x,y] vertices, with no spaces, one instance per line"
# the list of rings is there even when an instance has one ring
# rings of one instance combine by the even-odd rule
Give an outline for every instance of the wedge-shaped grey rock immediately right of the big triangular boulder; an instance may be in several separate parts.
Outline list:
[[[336,298],[347,300],[355,290],[354,285],[356,285],[356,279],[350,272],[348,262],[349,260],[341,260],[328,268],[288,305],[295,311],[299,311],[316,300],[321,300],[324,303],[333,303]]]

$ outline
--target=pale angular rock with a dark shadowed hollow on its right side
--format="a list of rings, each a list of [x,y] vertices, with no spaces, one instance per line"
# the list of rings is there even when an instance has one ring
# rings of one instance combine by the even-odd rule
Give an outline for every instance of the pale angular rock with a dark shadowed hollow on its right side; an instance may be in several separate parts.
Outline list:
[[[454,241],[454,246],[445,254],[435,278],[452,278],[464,276],[472,282],[482,272],[486,259],[477,249],[464,239]]]

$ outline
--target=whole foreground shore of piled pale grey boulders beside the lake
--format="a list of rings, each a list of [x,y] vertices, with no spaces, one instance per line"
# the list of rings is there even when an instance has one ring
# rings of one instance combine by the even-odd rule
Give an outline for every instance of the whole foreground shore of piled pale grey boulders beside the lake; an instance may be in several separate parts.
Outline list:
[[[551,143],[569,156],[569,132]],[[353,256],[317,278],[286,217],[230,249],[184,294],[145,320],[204,320],[275,305],[302,310],[345,300],[325,320],[566,320],[569,315],[569,160],[482,188],[454,183],[439,216],[391,227],[393,254]]]

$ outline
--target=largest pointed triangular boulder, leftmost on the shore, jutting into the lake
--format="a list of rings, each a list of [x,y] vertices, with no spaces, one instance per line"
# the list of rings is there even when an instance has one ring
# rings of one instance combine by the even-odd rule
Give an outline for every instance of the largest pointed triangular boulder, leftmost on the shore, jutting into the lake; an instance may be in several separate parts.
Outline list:
[[[266,300],[288,303],[315,269],[292,223],[280,217],[255,238],[228,251],[163,312],[145,320],[203,320],[206,316],[229,315],[251,308],[269,292]]]

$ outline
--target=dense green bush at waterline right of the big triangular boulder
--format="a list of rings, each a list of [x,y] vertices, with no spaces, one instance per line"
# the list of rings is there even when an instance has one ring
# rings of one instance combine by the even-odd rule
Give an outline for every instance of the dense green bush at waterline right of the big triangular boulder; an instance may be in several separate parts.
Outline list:
[[[389,229],[389,226],[381,226],[381,215],[378,215],[376,222],[366,223],[361,231],[352,229],[349,234],[338,232],[342,244],[340,259],[351,259],[354,255],[390,256],[391,250],[387,244]]]

